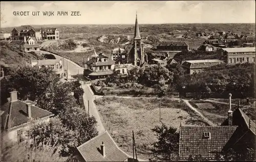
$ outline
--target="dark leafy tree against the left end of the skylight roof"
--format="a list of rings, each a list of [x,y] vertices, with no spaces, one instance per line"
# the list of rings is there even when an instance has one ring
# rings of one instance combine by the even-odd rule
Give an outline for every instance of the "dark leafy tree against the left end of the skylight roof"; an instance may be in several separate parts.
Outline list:
[[[162,156],[164,160],[177,160],[179,152],[179,133],[177,128],[167,127],[162,123],[152,129],[158,137],[152,150],[157,156]]]

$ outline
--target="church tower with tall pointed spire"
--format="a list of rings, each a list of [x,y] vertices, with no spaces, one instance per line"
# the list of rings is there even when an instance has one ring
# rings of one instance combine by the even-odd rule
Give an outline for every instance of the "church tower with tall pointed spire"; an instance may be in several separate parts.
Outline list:
[[[134,45],[134,65],[141,65],[144,63],[144,50],[143,50],[143,44],[141,42],[140,37],[140,30],[139,30],[139,24],[137,19],[137,12],[136,12],[136,21],[135,21],[135,32],[134,32],[134,38],[133,38],[133,45]]]

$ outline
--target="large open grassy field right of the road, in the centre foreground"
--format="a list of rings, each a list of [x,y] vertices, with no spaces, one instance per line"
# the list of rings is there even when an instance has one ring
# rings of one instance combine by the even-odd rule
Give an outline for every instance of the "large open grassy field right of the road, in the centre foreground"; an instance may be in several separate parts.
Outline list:
[[[161,122],[178,128],[182,125],[205,124],[198,115],[180,100],[100,98],[95,101],[105,128],[112,133],[118,146],[132,155],[132,130],[136,138],[139,158],[151,158],[152,144],[157,141],[151,130]],[[100,105],[98,105],[100,103]]]

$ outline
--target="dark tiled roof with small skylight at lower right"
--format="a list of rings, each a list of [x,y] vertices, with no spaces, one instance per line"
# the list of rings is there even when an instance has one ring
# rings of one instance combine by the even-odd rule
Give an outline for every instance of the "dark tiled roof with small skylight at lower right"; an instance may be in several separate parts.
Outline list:
[[[217,127],[180,127],[180,159],[188,159],[189,155],[202,155],[203,158],[215,158],[228,143],[238,126]],[[210,133],[210,138],[204,137]]]

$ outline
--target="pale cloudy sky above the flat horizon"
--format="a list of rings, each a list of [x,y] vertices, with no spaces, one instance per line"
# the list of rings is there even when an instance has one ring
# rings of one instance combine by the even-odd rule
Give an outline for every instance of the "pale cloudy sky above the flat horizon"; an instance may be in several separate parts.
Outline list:
[[[14,11],[30,11],[15,16]],[[40,11],[33,16],[32,11]],[[43,16],[42,11],[54,11]],[[68,11],[68,16],[57,16]],[[71,16],[79,11],[80,16]],[[255,23],[255,1],[41,1],[1,2],[1,27],[47,24]]]

